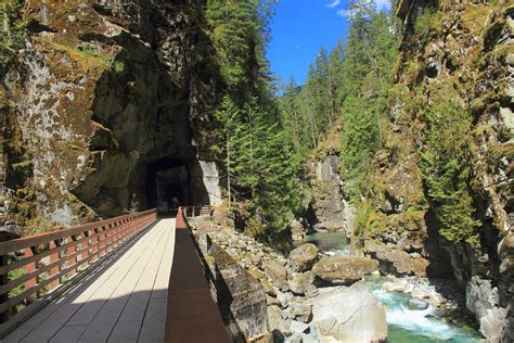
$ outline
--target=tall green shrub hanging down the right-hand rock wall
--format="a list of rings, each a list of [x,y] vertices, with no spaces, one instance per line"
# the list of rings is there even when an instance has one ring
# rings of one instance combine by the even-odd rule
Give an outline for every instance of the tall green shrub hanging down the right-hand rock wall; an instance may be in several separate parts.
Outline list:
[[[420,168],[431,208],[440,225],[439,233],[452,242],[476,243],[479,221],[473,217],[468,191],[471,116],[446,93],[428,106],[426,122]]]

